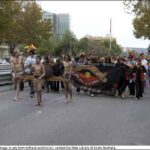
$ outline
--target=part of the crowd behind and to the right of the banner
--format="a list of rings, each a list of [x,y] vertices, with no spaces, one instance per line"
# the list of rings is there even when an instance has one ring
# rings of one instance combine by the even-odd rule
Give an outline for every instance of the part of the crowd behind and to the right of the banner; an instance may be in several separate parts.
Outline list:
[[[79,65],[87,64],[116,64],[121,67],[121,75],[118,83],[118,95],[125,99],[125,91],[128,87],[129,96],[135,99],[143,97],[144,88],[150,85],[150,61],[145,59],[144,53],[141,53],[139,57],[129,55],[128,57],[86,57],[81,55],[78,58],[77,63]],[[80,92],[80,89],[77,89]],[[91,93],[93,96],[94,93]]]

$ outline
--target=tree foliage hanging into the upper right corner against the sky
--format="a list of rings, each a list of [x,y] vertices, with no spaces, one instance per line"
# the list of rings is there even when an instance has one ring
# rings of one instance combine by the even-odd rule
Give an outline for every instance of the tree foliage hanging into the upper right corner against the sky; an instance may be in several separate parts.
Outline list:
[[[150,39],[150,1],[124,1],[125,8],[128,12],[133,13],[134,35],[136,38]]]

